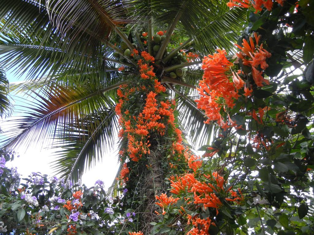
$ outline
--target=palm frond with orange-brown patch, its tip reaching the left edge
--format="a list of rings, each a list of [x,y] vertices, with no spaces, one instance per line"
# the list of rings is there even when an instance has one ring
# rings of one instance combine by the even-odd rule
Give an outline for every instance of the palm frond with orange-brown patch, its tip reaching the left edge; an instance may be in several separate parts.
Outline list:
[[[34,101],[27,106],[28,110],[22,107],[25,116],[7,133],[3,146],[13,148],[22,142],[27,145],[45,142],[48,136],[54,137],[62,130],[57,127],[112,105],[97,86],[73,89],[55,85],[42,89],[41,94],[33,91],[30,97]]]

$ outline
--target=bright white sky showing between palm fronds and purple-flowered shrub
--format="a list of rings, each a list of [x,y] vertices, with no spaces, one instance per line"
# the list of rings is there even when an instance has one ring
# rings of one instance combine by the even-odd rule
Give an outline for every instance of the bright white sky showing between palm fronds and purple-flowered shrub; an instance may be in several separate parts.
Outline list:
[[[23,77],[19,79],[14,75],[13,70],[7,71],[7,78],[10,83],[22,82]],[[14,104],[22,104],[22,102],[14,99]],[[10,128],[8,120],[18,119],[17,114],[12,114],[11,117],[3,118],[3,122],[0,124],[3,131]],[[12,121],[11,121],[12,122]],[[102,180],[105,182],[105,187],[111,186],[114,178],[116,177],[116,172],[120,163],[117,159],[117,147],[115,146],[108,153],[103,154],[102,161],[98,162],[95,167],[86,171],[82,176],[82,184],[87,185],[87,187],[94,186],[96,180]],[[18,149],[14,149],[17,152],[16,155],[20,157],[15,157],[12,162],[8,162],[6,165],[8,167],[17,167],[19,174],[23,177],[27,177],[31,172],[41,172],[41,174],[47,174],[49,177],[54,176],[54,170],[51,168],[52,162],[55,158],[54,152],[57,149],[49,149],[48,146],[34,145],[31,147],[21,146]]]

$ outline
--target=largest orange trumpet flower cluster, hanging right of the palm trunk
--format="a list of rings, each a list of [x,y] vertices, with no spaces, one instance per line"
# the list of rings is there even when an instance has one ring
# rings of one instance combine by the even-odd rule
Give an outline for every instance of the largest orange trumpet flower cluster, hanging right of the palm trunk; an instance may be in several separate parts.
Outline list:
[[[221,128],[229,128],[227,122],[224,122],[220,110],[223,106],[221,98],[225,104],[233,108],[235,103],[233,99],[238,99],[240,95],[238,90],[244,86],[244,81],[238,74],[232,73],[230,67],[233,64],[227,60],[226,51],[217,49],[218,53],[205,56],[202,69],[204,70],[203,80],[199,83],[200,98],[195,100],[199,109],[205,110],[207,121],[217,121]],[[230,81],[232,76],[233,81]]]

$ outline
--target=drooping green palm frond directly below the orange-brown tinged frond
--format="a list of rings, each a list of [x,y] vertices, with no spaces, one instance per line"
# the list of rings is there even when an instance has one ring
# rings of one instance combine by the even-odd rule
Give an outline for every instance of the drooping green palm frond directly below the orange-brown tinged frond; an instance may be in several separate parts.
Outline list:
[[[91,127],[95,128],[91,128]],[[77,181],[84,169],[90,169],[114,143],[118,130],[118,122],[114,109],[93,113],[68,123],[65,128],[66,137],[54,144],[61,147],[57,151],[54,169],[66,180]]]

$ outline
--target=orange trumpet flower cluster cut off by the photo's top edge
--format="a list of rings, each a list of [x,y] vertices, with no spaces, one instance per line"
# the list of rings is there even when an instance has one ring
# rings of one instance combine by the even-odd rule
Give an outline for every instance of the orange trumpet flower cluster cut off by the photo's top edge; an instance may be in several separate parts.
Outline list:
[[[275,0],[281,6],[284,5],[285,0]],[[262,10],[264,6],[268,11],[271,11],[273,8],[273,0],[254,0],[254,2],[249,0],[230,0],[227,3],[229,8],[241,7],[241,8],[250,8],[251,6],[255,9],[255,14]]]

